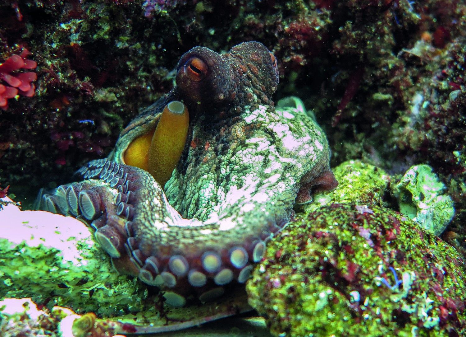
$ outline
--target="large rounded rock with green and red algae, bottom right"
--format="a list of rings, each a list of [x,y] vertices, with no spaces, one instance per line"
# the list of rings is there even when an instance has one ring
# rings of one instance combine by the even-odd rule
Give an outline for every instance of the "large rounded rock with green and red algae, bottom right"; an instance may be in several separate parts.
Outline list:
[[[465,336],[465,277],[411,219],[332,204],[270,242],[247,291],[275,336]]]

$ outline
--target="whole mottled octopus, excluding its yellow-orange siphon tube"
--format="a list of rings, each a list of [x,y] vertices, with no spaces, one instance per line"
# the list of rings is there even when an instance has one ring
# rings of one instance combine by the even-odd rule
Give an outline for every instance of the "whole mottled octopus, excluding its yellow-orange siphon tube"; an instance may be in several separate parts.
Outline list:
[[[190,64],[200,64],[200,80],[188,74]],[[162,288],[173,305],[244,283],[267,240],[292,217],[298,191],[303,203],[312,190],[337,184],[324,133],[302,111],[274,108],[277,84],[275,58],[259,42],[223,55],[191,49],[173,90],[123,130],[108,159],[81,168],[81,182],[44,196],[45,208],[90,223],[118,271]],[[190,124],[163,189],[125,165],[123,154],[173,100],[187,105]]]

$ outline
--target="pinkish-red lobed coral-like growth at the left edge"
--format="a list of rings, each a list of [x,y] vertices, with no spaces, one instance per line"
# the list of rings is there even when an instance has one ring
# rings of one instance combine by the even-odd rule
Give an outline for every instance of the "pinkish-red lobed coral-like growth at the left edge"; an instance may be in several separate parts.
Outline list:
[[[29,54],[27,49],[23,49],[21,54],[14,54],[0,63],[0,108],[7,110],[8,98],[14,98],[16,95],[34,96],[35,86],[32,81],[37,79],[37,74],[32,71],[20,72],[18,70],[34,69],[37,62],[27,60]]]

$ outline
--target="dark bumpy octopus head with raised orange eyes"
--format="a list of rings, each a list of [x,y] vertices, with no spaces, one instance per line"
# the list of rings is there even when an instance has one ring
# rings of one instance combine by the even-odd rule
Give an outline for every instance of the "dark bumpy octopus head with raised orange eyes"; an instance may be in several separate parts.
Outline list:
[[[248,77],[261,84],[257,89],[264,91],[267,98],[277,88],[277,61],[260,42],[241,43],[223,55],[195,47],[181,57],[176,84],[180,98],[190,108],[231,106],[241,103],[238,94],[244,91]]]

